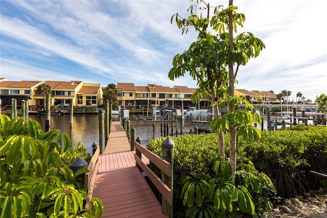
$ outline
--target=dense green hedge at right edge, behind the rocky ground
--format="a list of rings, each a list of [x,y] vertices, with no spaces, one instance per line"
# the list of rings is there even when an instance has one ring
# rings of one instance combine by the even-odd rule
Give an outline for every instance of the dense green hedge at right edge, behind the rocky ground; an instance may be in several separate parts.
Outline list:
[[[264,131],[257,141],[240,140],[242,160],[251,160],[265,172],[280,197],[317,188],[318,178],[310,170],[327,173],[327,128],[295,126],[278,131]]]

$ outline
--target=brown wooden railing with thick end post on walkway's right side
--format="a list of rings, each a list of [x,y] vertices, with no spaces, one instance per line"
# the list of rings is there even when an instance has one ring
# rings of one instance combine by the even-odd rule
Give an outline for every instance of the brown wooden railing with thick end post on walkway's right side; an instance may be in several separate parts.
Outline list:
[[[136,166],[141,167],[147,177],[152,181],[155,187],[162,195],[162,213],[173,217],[173,165],[174,165],[174,142],[167,138],[162,142],[162,158],[135,142],[136,152],[134,159]],[[142,155],[155,164],[161,171],[161,180],[155,173],[142,161]]]

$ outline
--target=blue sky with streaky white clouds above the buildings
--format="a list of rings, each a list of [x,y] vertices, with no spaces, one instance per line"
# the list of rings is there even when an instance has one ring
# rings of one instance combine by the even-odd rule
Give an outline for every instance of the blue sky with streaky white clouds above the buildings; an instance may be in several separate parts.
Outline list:
[[[228,1],[208,1],[214,7]],[[0,1],[0,77],[84,83],[186,85],[168,78],[173,57],[197,38],[171,24],[196,1]],[[234,0],[244,27],[266,48],[240,66],[236,89],[292,92],[315,100],[327,94],[325,0]],[[198,7],[200,8],[200,6]],[[213,11],[213,9],[212,9]],[[211,31],[212,34],[216,34]]]

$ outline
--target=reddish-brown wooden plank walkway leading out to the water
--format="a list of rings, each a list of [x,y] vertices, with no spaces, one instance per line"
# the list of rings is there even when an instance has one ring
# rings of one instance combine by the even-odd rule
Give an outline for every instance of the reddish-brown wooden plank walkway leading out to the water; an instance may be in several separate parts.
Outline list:
[[[102,217],[168,217],[135,166],[134,153],[120,122],[112,122],[93,191],[102,200]]]

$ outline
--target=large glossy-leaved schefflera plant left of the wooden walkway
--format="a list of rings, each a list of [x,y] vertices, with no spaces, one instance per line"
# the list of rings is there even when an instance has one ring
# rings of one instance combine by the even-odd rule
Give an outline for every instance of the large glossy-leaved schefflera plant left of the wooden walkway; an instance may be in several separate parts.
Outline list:
[[[103,204],[92,199],[60,157],[71,139],[55,129],[43,133],[32,119],[0,115],[0,217],[101,217]]]

